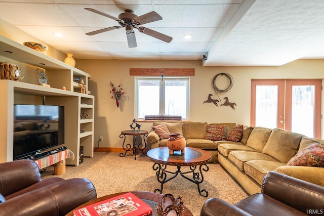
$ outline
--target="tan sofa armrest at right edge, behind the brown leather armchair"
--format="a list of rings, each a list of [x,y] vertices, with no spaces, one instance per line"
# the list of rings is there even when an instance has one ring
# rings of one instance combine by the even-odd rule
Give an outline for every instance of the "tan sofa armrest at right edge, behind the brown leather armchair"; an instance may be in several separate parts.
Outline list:
[[[323,167],[279,166],[274,171],[324,187]]]

